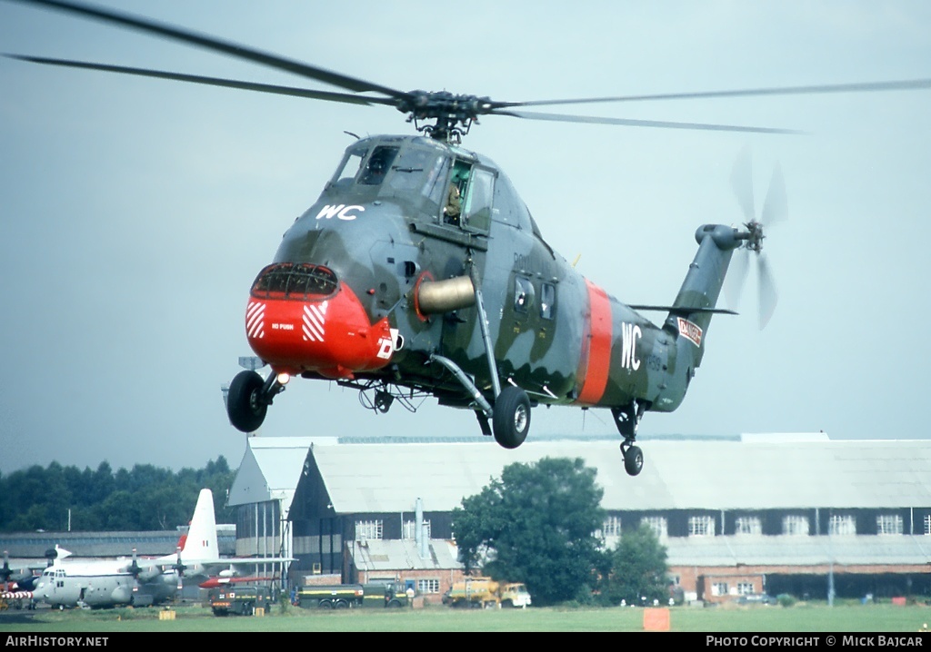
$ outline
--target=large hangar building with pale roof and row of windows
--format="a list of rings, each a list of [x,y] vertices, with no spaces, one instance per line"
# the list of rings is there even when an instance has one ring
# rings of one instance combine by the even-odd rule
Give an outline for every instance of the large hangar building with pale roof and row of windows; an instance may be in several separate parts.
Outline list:
[[[514,450],[489,439],[265,439],[249,439],[230,493],[242,514],[236,552],[294,557],[292,585],[394,579],[427,596],[442,593],[462,574],[452,509],[507,464],[577,457],[596,469],[604,489],[606,545],[627,528],[653,527],[687,599],[824,598],[829,591],[931,597],[928,441],[819,433],[643,439],[643,471],[630,477],[616,441],[590,438],[528,441]],[[293,446],[286,451],[281,442]],[[265,457],[281,461],[265,466]],[[274,478],[263,481],[263,469],[293,472],[292,493]],[[263,500],[239,493],[247,479],[250,489],[261,486]]]

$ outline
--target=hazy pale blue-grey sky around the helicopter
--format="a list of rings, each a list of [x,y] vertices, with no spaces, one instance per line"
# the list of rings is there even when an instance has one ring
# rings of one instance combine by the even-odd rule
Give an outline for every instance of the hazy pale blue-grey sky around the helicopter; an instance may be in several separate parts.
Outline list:
[[[931,78],[921,0],[476,0],[447,14],[404,1],[101,4],[384,86],[493,100]],[[0,51],[338,90],[8,0]],[[412,125],[388,107],[6,58],[0,88],[0,472],[104,460],[180,470],[221,455],[236,466],[246,435],[222,387],[251,355],[252,280],[317,200],[353,141],[344,132]],[[751,268],[740,314],[712,321],[682,405],[641,421],[647,464],[652,435],[929,437],[931,89],[542,110],[803,132],[487,116],[466,136],[546,240],[627,303],[671,302],[696,227],[743,219],[730,182],[741,152],[758,211],[782,170],[788,220],[764,242],[776,312],[761,330]],[[530,440],[559,433],[616,431],[606,412],[534,410]],[[354,391],[300,379],[260,431],[358,434],[481,438],[471,413],[433,399],[375,414]]]

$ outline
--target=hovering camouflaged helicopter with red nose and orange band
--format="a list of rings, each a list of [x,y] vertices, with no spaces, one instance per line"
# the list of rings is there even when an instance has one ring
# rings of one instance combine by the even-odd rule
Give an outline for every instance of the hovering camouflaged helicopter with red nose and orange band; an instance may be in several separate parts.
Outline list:
[[[230,383],[227,413],[241,432],[258,429],[277,395],[297,378],[356,389],[371,397],[371,407],[379,412],[414,396],[435,397],[442,406],[472,411],[480,432],[506,448],[526,439],[537,406],[604,408],[622,437],[625,468],[636,475],[643,463],[636,443],[642,417],[681,405],[701,364],[712,315],[730,312],[717,308],[717,300],[732,257],[746,251],[762,260],[769,220],[748,214],[742,227],[701,226],[695,233],[698,252],[677,297],[665,306],[624,304],[547,244],[504,170],[466,149],[463,140],[485,116],[785,130],[524,111],[621,98],[510,102],[446,91],[398,91],[97,7],[29,4],[205,47],[341,92],[16,55],[20,60],[393,107],[415,128],[416,135],[352,143],[317,202],[290,226],[271,264],[258,273],[250,288],[245,332],[271,373],[247,370]],[[885,87],[893,86],[847,89]],[[458,208],[449,201],[456,194]],[[649,311],[667,313],[665,321],[657,326],[641,316]]]

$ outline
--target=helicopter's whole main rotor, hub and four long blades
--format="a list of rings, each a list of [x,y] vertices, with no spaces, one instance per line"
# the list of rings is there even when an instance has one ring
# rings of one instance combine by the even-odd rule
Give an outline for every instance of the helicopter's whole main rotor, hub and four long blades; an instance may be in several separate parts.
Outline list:
[[[159,79],[190,82],[207,86],[223,86],[240,90],[301,97],[311,100],[325,100],[349,104],[393,106],[401,113],[407,113],[408,122],[413,122],[422,131],[438,140],[461,139],[468,132],[473,120],[481,115],[507,115],[526,120],[544,120],[557,122],[589,123],[618,126],[652,126],[676,129],[709,129],[716,131],[735,131],[749,133],[790,134],[799,133],[792,129],[763,126],[711,125],[690,122],[669,122],[657,120],[637,120],[629,118],[599,117],[593,115],[570,115],[564,113],[525,112],[522,107],[552,106],[560,104],[616,103],[654,100],[699,100],[735,97],[760,97],[776,95],[805,95],[847,92],[870,92],[890,90],[910,90],[931,87],[931,79],[913,79],[885,82],[865,82],[854,84],[830,84],[816,86],[782,86],[772,88],[740,88],[701,92],[663,93],[653,95],[624,95],[600,98],[581,98],[569,100],[530,100],[501,101],[476,95],[454,94],[448,91],[411,90],[402,91],[389,86],[359,79],[343,73],[336,73],[319,68],[302,61],[290,60],[276,54],[263,52],[237,43],[223,41],[202,33],[196,33],[155,20],[112,11],[103,7],[94,7],[63,0],[13,0],[24,4],[57,9],[81,15],[90,20],[101,20],[118,26],[150,33],[155,36],[179,41],[190,46],[201,47],[252,63],[293,73],[306,79],[337,86],[351,92],[331,92],[295,86],[276,86],[259,84],[235,79],[207,77],[195,74],[172,73],[144,68],[130,68],[90,61],[51,59],[18,54],[4,56],[34,63],[42,63],[71,68],[83,68],[109,73],[133,74]],[[422,120],[435,120],[433,125],[420,125]]]

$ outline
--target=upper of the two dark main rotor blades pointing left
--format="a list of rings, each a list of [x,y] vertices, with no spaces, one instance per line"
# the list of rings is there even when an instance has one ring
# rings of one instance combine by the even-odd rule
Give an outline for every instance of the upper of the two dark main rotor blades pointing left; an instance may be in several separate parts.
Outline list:
[[[20,2],[26,5],[34,5],[37,7],[57,9],[60,11],[78,14],[92,20],[111,22],[122,27],[128,27],[130,29],[139,30],[141,32],[152,33],[164,38],[181,41],[182,43],[186,43],[191,46],[203,47],[214,52],[222,52],[223,54],[235,57],[236,59],[252,61],[254,63],[260,63],[270,68],[276,68],[277,70],[299,74],[310,79],[315,79],[319,82],[331,84],[332,86],[340,86],[346,90],[353,90],[357,92],[374,91],[383,93],[388,97],[395,98],[397,100],[405,99],[409,95],[408,93],[396,90],[395,88],[373,84],[371,82],[358,79],[357,77],[350,77],[349,75],[341,73],[334,73],[324,68],[308,65],[302,61],[285,59],[283,57],[263,52],[261,50],[241,46],[229,41],[223,41],[206,34],[189,32],[166,23],[160,23],[155,22],[155,20],[148,20],[136,16],[131,16],[129,14],[112,11],[103,7],[62,2],[61,0],[9,1]]]

